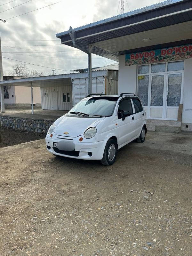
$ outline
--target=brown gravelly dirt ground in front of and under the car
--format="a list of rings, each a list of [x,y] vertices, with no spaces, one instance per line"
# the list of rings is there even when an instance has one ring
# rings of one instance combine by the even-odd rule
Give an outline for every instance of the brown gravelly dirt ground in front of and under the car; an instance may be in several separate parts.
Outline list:
[[[148,132],[115,164],[0,149],[0,255],[191,256],[192,134]]]

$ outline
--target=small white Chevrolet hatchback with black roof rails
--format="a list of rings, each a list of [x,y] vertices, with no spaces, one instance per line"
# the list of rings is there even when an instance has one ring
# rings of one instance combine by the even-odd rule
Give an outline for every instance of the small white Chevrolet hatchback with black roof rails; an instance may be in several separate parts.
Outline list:
[[[90,94],[50,126],[45,141],[55,156],[111,165],[119,148],[135,139],[144,142],[146,132],[146,113],[137,96]]]

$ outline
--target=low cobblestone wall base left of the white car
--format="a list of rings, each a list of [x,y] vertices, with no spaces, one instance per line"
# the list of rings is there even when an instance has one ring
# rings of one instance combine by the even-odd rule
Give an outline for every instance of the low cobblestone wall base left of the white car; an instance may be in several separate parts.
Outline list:
[[[0,126],[26,132],[47,133],[53,122],[52,120],[0,116]]]

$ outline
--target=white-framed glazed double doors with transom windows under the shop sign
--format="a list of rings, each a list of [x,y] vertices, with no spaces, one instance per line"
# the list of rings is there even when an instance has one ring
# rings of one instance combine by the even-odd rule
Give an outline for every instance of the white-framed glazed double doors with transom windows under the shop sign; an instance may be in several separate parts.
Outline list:
[[[184,61],[138,68],[138,96],[149,119],[177,120],[182,104]]]

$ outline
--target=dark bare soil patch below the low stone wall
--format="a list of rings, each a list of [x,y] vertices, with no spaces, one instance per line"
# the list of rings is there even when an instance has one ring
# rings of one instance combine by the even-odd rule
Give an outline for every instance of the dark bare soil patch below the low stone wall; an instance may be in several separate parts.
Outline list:
[[[0,146],[3,148],[32,140],[40,140],[45,138],[46,134],[21,132],[19,130],[0,127],[0,136]]]

